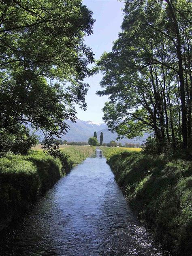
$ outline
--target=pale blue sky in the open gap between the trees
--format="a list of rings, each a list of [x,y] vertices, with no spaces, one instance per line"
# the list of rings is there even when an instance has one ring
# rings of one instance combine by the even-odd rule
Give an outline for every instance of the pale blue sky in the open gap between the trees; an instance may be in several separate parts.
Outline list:
[[[99,59],[104,51],[111,51],[113,42],[118,38],[123,19],[123,2],[117,0],[83,0],[88,9],[93,11],[93,17],[96,19],[91,36],[85,38],[85,43],[92,47],[95,58]],[[85,82],[90,84],[86,96],[87,111],[77,107],[77,117],[82,120],[91,120],[93,122],[102,121],[102,107],[107,101],[107,97],[99,97],[95,93],[100,89],[99,81],[102,75],[94,75],[86,78]]]

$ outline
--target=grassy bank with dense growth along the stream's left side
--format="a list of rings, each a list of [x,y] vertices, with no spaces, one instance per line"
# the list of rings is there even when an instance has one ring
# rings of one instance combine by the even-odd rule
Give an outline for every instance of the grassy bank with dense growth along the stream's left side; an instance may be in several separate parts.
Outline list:
[[[27,156],[9,154],[0,158],[0,230],[74,165],[92,154],[94,147],[74,146],[62,152],[61,159],[40,150],[31,151]]]

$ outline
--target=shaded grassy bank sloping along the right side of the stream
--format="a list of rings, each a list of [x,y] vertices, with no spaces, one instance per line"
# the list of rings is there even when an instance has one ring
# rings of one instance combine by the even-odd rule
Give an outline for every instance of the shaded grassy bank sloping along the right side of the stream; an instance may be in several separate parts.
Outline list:
[[[132,209],[173,255],[192,255],[192,163],[103,148]]]

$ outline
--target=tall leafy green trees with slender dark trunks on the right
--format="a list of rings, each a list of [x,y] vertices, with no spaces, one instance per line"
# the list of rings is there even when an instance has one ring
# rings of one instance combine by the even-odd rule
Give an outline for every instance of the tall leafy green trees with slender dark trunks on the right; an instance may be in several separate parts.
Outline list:
[[[98,61],[104,120],[119,137],[147,131],[156,152],[191,154],[191,19],[188,0],[125,1],[119,38]]]

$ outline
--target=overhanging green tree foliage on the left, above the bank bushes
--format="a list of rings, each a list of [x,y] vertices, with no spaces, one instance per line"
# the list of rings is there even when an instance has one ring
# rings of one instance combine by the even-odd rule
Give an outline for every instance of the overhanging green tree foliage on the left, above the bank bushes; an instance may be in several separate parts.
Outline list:
[[[83,79],[94,58],[83,37],[92,34],[92,12],[81,0],[9,0],[0,17],[1,147],[26,124],[42,130],[49,149],[65,120],[75,121],[75,103],[86,108]]]

